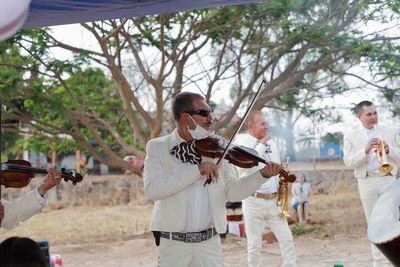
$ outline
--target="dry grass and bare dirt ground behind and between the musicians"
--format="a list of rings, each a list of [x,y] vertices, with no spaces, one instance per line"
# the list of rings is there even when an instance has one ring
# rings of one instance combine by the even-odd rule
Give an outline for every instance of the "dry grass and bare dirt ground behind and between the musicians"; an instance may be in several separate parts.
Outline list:
[[[336,178],[329,176],[318,181],[323,190],[311,197],[313,223],[291,225],[298,265],[372,266],[354,178],[342,174]],[[15,230],[1,229],[0,241],[10,236],[48,240],[50,253],[59,254],[66,267],[156,266],[157,249],[149,233],[151,209],[152,203],[140,198],[108,206],[48,205]],[[228,234],[222,240],[222,247],[224,266],[246,266],[245,237]],[[261,257],[264,266],[280,266],[278,244],[264,241]]]

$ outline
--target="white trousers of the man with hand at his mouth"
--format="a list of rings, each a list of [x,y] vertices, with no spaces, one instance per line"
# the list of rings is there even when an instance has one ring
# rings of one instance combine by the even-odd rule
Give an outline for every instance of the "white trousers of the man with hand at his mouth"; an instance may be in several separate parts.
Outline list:
[[[247,237],[247,263],[249,267],[261,266],[262,233],[267,225],[275,234],[282,255],[282,266],[297,266],[293,235],[285,217],[279,216],[276,198],[248,197],[242,202]],[[263,266],[265,266],[263,264]]]

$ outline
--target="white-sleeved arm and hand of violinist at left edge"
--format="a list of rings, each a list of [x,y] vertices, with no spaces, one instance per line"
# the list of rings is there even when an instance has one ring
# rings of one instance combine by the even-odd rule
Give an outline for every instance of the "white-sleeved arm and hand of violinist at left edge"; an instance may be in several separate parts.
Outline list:
[[[46,202],[46,192],[61,181],[61,172],[56,167],[47,169],[47,177],[35,189],[15,201],[2,199],[0,202],[1,227],[13,229],[19,222],[26,221],[40,212]]]

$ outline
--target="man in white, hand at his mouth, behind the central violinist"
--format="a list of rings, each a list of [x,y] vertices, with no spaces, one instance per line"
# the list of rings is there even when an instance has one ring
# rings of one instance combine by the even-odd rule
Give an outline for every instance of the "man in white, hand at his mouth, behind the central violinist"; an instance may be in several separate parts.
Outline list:
[[[249,113],[246,129],[246,134],[240,134],[236,138],[237,145],[256,150],[258,155],[267,161],[280,162],[278,148],[267,133],[267,121],[261,111]],[[239,171],[241,174],[249,174],[263,168],[264,165],[259,164],[251,169],[241,168]],[[297,266],[293,235],[286,217],[280,216],[281,209],[277,205],[278,190],[279,177],[276,175],[265,181],[250,197],[243,200],[249,267],[261,266],[262,233],[265,225],[271,229],[278,240],[282,255],[281,266]]]

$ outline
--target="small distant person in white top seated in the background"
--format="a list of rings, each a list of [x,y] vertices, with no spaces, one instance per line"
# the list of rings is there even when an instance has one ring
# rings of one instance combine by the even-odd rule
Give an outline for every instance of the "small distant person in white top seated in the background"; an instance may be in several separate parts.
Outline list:
[[[307,183],[304,174],[301,174],[298,182],[292,185],[292,207],[297,213],[299,223],[308,221],[308,215],[310,213],[310,190],[310,183]]]

